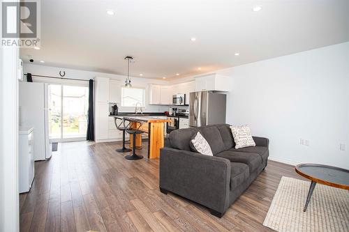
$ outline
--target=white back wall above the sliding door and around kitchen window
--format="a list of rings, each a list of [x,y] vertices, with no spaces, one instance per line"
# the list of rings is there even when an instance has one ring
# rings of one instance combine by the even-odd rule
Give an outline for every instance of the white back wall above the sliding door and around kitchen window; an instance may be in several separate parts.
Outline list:
[[[34,65],[31,63],[24,63],[24,73],[30,72],[32,75],[47,75],[52,77],[59,77],[59,71],[66,71],[66,76],[68,78],[75,78],[75,79],[93,79],[94,77],[109,77],[111,79],[119,79],[121,80],[121,83],[124,84],[126,77],[122,75],[113,75],[109,73],[102,73],[102,72],[89,72],[89,71],[83,71],[83,70],[73,70],[68,68],[56,68],[56,67],[50,67],[50,66],[44,66],[44,65]],[[36,78],[35,80],[47,80],[52,81],[52,79],[47,78]],[[59,82],[59,80],[53,79],[53,81]],[[131,84],[134,87],[142,87],[145,88],[145,96],[146,96],[146,105],[143,108],[143,111],[147,112],[153,112],[153,111],[168,111],[167,106],[161,106],[161,105],[149,105],[149,84],[168,84],[168,82],[158,79],[146,79],[146,78],[139,78],[139,77],[131,77]],[[134,111],[134,107],[120,107],[119,111]]]

